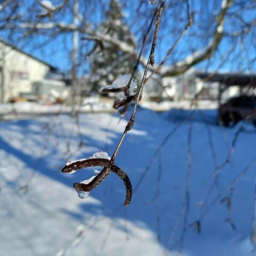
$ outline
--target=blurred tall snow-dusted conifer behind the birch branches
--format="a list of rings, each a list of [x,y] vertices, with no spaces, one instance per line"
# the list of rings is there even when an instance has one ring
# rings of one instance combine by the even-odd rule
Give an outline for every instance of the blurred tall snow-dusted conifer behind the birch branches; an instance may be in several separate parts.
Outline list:
[[[124,14],[118,0],[111,0],[106,20],[98,26],[100,33],[109,35],[118,41],[124,41],[136,48],[135,38],[129,27],[123,22]],[[93,54],[91,59],[91,81],[93,90],[101,91],[102,87],[112,82],[123,74],[131,73],[134,68],[134,60],[126,52],[116,50],[113,44],[104,44]]]

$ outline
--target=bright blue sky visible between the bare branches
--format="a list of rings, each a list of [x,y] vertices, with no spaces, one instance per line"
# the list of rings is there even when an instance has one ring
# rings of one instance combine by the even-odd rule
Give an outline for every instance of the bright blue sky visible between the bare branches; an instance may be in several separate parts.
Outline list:
[[[108,1],[103,1],[103,3],[106,4],[105,6],[106,9],[108,7],[107,2]],[[166,4],[168,4],[169,2],[170,1],[166,1]],[[239,1],[235,1],[235,2],[239,2]],[[26,8],[28,8],[28,5],[30,3],[28,2],[23,3],[22,10],[25,11]],[[140,17],[138,17],[138,15],[137,16],[134,15],[135,8],[137,8],[137,5],[135,4],[136,1],[133,1],[133,3],[134,3],[133,5],[127,4],[124,9],[124,12],[126,15],[125,22],[131,25],[132,32],[134,33],[134,35],[138,34],[141,37],[141,35],[143,34],[142,31],[141,30],[140,32],[137,31],[138,27],[140,29],[140,26],[134,26],[134,23],[141,22],[140,24],[145,24],[145,27],[146,27],[150,22],[150,18],[148,19],[144,18],[142,20],[138,20]],[[202,34],[202,32],[203,33],[209,32],[209,31],[204,31],[204,29],[202,28],[199,29],[199,26],[197,26],[197,21],[200,20],[200,23],[199,23],[200,26],[204,26],[205,24],[202,24],[202,21],[206,20],[206,22],[208,22],[207,13],[217,14],[219,12],[220,3],[221,3],[220,0],[208,1],[207,6],[204,6],[204,8],[207,9],[207,12],[204,12],[204,8],[202,8],[202,6],[198,4],[198,1],[196,0],[190,1],[192,12],[197,13],[197,15],[194,16],[195,25],[192,26],[191,29],[189,29],[187,35],[184,36],[183,39],[180,41],[180,43],[177,45],[177,48],[170,56],[169,64],[186,57],[186,55],[189,55],[191,50],[200,49],[202,46],[207,45],[207,43],[209,42],[209,38],[208,39],[198,38],[198,37],[192,36],[192,34],[195,32],[199,34],[200,33]],[[86,8],[86,2],[82,3],[80,7],[81,9]],[[40,11],[41,7],[37,5],[32,5],[29,8],[32,9],[34,12],[38,12]],[[144,5],[142,5],[142,8],[146,8],[147,9],[146,15],[148,15],[148,17],[151,17],[151,13],[153,12],[155,6],[151,6],[146,1]],[[159,40],[157,41],[157,48],[156,48],[156,54],[155,54],[156,63],[159,62],[164,57],[167,50],[172,46],[172,44],[175,42],[178,36],[178,32],[174,34],[172,32],[169,32],[169,30],[174,29],[177,26],[177,30],[181,31],[183,26],[186,23],[186,11],[182,10],[182,8],[186,9],[186,5],[185,4],[180,5],[181,11],[179,15],[183,20],[178,22],[177,24],[175,24],[175,22],[177,22],[175,18],[172,17],[173,14],[175,14],[174,12],[166,11],[166,13],[163,14],[163,22],[162,22],[163,24],[161,24],[162,27],[160,26]],[[236,9],[238,9],[238,7],[234,5],[232,11],[235,12]],[[248,22],[252,20],[253,17],[255,17],[255,12],[249,9],[247,11],[244,11],[242,17],[245,21]],[[94,24],[97,24],[101,19],[102,19],[101,13],[99,12],[99,9],[96,7],[94,15],[90,17],[90,21],[93,22]],[[67,12],[65,13],[65,15],[63,14],[56,15],[56,20],[58,21],[61,20],[62,22],[69,23],[70,21],[72,21],[72,16],[70,15],[70,13]],[[44,22],[49,22],[49,20],[45,19]],[[212,23],[214,24],[215,20],[212,20]],[[237,29],[236,29],[236,26],[237,26]],[[214,26],[212,26],[212,29],[214,29]],[[235,21],[231,19],[226,20],[224,31],[230,31],[230,30],[239,30],[239,27],[236,24],[236,20]],[[1,34],[3,37],[6,36],[5,32],[2,32]],[[224,70],[224,71],[227,71],[227,70],[255,71],[256,70],[255,62],[249,63],[249,60],[253,59],[253,56],[254,57],[256,56],[256,48],[255,48],[256,42],[255,42],[255,39],[253,38],[253,34],[245,37],[243,41],[242,39],[243,38],[241,38],[240,43],[236,44],[236,47],[234,47],[234,43],[233,41],[231,41],[231,38],[224,38],[218,47],[218,51],[212,56],[211,60],[209,61],[209,65],[207,65],[208,69],[215,70],[217,68],[220,68],[221,70]],[[44,35],[39,35],[33,40],[33,42],[29,43],[28,41],[22,41],[18,44],[18,46],[23,50],[25,50],[26,52],[29,52],[32,55],[35,55],[36,57],[49,62],[53,66],[58,67],[60,70],[70,70],[71,68],[70,51],[72,49],[72,34],[65,33],[64,35],[60,35],[57,38],[55,38],[54,41],[49,42],[49,44],[46,44],[44,47],[38,47],[38,44],[43,44],[45,40],[46,40],[46,37]],[[141,45],[140,38],[137,38],[137,41],[139,41],[138,47],[140,47]],[[80,49],[83,49],[83,52],[79,53],[80,55],[85,54],[92,47],[92,44],[90,43],[87,43],[87,46],[86,46],[86,42],[80,41],[80,43],[83,44],[84,46],[84,48],[80,48]],[[80,47],[81,47],[81,44],[80,44]],[[230,49],[232,49],[230,58],[228,58],[227,61],[225,61],[225,64],[221,66],[221,63],[223,61],[221,60],[220,56],[224,55],[225,52],[229,51]],[[144,55],[147,56],[148,51],[145,51]],[[85,64],[83,65],[83,69],[80,70],[80,72],[81,73],[90,72],[89,64],[90,64],[90,59],[87,62],[85,62]],[[207,61],[203,61],[202,63],[197,65],[197,68],[204,69],[206,67],[206,64],[207,64]]]

